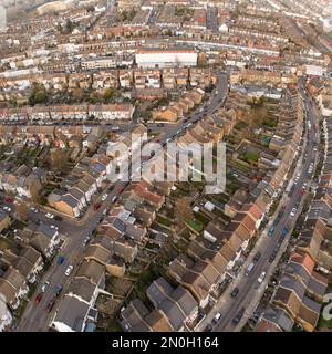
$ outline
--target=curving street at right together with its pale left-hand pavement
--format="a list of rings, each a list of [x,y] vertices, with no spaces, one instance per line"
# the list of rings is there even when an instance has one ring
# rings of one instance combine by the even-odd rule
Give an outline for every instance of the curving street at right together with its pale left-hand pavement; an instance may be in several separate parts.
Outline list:
[[[301,86],[303,87],[303,83],[301,83]],[[242,271],[239,279],[228,291],[226,291],[224,295],[221,295],[221,299],[216,303],[212,311],[200,323],[196,331],[203,331],[206,325],[211,324],[210,321],[217,312],[221,314],[221,317],[217,324],[212,325],[212,332],[240,331],[246,322],[246,319],[251,316],[251,312],[261,299],[269,279],[272,275],[276,266],[282,256],[282,249],[284,249],[284,246],[287,246],[289,242],[291,232],[288,233],[283,241],[281,238],[281,232],[284,227],[287,227],[290,231],[293,229],[295,220],[301,214],[303,200],[305,198],[305,195],[301,196],[300,190],[304,183],[309,184],[311,181],[311,177],[308,176],[309,165],[311,160],[317,162],[318,159],[318,152],[313,149],[313,144],[319,143],[319,136],[314,131],[314,124],[318,123],[318,114],[315,112],[315,108],[309,103],[312,101],[304,94],[303,88],[301,88],[301,92],[309,108],[309,118],[311,121],[312,128],[309,132],[308,140],[303,149],[303,154],[307,154],[307,158],[299,159],[299,169],[294,171],[294,175],[298,174],[298,171],[300,173],[300,177],[298,179],[298,183],[295,184],[294,190],[292,191],[290,197],[283,196],[280,206],[284,207],[284,211],[280,221],[276,226],[272,237],[269,237],[266,233],[262,235],[261,239],[258,240],[256,247],[250,253],[247,264],[252,261],[253,254],[256,254],[257,251],[260,251],[262,254],[260,259],[255,263],[253,270],[249,273],[248,277],[243,275]],[[297,207],[297,212],[294,217],[291,217],[290,212],[294,207]],[[278,211],[276,214],[278,214]],[[269,259],[274,248],[279,249],[279,252],[274,261],[270,263]],[[263,282],[259,284],[257,279],[263,271],[267,273],[267,275]],[[236,299],[229,296],[229,293],[234,289],[234,287],[239,288],[239,294]],[[242,321],[235,325],[232,323],[232,320],[241,309],[243,309],[243,316],[241,319]]]

